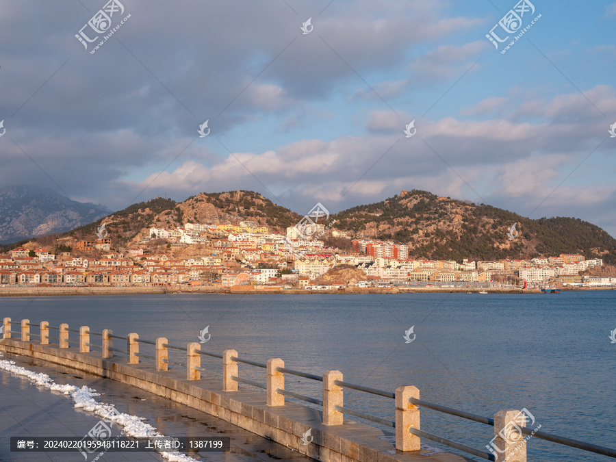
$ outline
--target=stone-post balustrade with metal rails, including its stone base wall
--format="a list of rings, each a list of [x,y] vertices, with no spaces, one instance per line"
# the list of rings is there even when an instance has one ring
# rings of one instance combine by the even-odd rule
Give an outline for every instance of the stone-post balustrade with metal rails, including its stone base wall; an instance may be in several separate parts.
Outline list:
[[[21,325],[20,331],[12,329],[15,324]],[[37,326],[39,333],[31,333],[31,326]],[[58,337],[51,337],[50,329],[56,330]],[[79,341],[71,340],[70,333],[78,333]],[[18,334],[19,339],[13,339],[13,334]],[[39,341],[31,341],[31,335],[38,337]],[[91,335],[101,337],[101,344],[90,343]],[[50,339],[57,340],[57,348],[49,346]],[[114,339],[125,341],[126,350],[114,348]],[[76,344],[78,348],[70,347],[69,344]],[[146,355],[140,346],[153,346],[155,356]],[[90,348],[99,348],[101,353],[90,352]],[[169,349],[184,351],[185,363],[170,361]],[[286,368],[280,358],[259,363],[238,357],[236,350],[224,350],[222,355],[201,351],[201,344],[196,342],[183,347],[169,344],[164,337],[153,342],[140,339],[137,333],[119,337],[109,329],[97,333],[90,331],[88,326],[76,330],[69,329],[68,324],[56,327],[49,326],[48,322],[36,325],[26,319],[13,322],[10,318],[4,318],[0,350],[60,363],[147,389],[159,396],[216,415],[321,461],[413,461],[418,460],[418,456],[426,461],[468,460],[449,453],[422,454],[421,441],[429,439],[487,460],[525,462],[526,441],[532,436],[616,458],[616,450],[611,448],[545,433],[539,431],[541,426],[526,428],[527,417],[530,417],[531,424],[535,423],[535,417],[526,409],[502,409],[493,418],[484,417],[426,402],[420,399],[419,389],[411,385],[387,392],[344,381],[342,372],[337,370],[328,370],[318,376]],[[116,359],[114,352],[125,354],[126,357]],[[201,367],[202,357],[222,359],[222,380],[201,378],[201,372],[210,372],[208,368]],[[150,359],[153,363],[146,363],[143,359]],[[240,377],[240,363],[266,370],[266,384]],[[181,366],[185,378],[182,378],[181,372],[169,370],[170,364]],[[320,381],[322,400],[285,389],[285,376],[288,375]],[[239,383],[263,389],[265,394],[240,390]],[[395,420],[388,421],[345,407],[344,389],[394,400]],[[321,407],[322,411],[285,402],[285,397],[311,402]],[[420,426],[420,408],[433,409],[493,427],[494,437],[486,446],[489,452],[424,431]],[[396,430],[395,436],[348,420],[346,415],[391,426]]]

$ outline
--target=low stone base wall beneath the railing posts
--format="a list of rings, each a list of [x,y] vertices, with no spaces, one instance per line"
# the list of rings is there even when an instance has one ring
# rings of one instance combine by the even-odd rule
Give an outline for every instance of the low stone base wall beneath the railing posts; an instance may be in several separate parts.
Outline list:
[[[257,435],[324,462],[469,461],[449,452],[396,450],[393,433],[344,419],[342,425],[322,424],[322,412],[294,402],[268,406],[266,394],[240,389],[224,392],[222,381],[188,380],[185,370],[157,371],[153,363],[129,364],[125,358],[101,358],[97,352],[79,348],[55,348],[18,339],[0,340],[0,350],[36,357],[51,363],[127,383],[227,420]],[[303,444],[311,429],[313,441]]]

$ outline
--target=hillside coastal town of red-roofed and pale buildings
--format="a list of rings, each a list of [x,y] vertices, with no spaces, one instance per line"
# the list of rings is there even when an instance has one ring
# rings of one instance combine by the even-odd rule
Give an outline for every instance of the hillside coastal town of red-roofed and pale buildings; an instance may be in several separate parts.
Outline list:
[[[350,242],[350,248],[325,246],[319,237],[326,231],[334,238]],[[66,246],[57,246],[52,252],[36,242],[29,244],[31,248],[18,247],[0,255],[1,286],[208,285],[241,286],[246,290],[333,290],[405,285],[616,285],[616,278],[580,275],[603,265],[602,259],[585,259],[583,255],[496,261],[429,260],[412,257],[405,244],[350,240],[345,233],[326,230],[323,224],[316,223],[311,224],[310,235],[300,225],[287,228],[283,235],[248,221],[185,223],[175,229],[152,227],[139,242],[117,251],[112,249],[111,240],[104,237],[80,240],[70,251]],[[161,246],[168,252],[150,253],[151,248]],[[355,269],[356,277],[324,280],[324,274],[333,268]]]

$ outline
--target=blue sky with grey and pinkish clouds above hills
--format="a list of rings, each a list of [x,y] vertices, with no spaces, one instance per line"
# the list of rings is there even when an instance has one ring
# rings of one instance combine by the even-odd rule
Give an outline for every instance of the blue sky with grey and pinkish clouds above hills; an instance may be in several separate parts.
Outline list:
[[[419,189],[616,236],[616,3],[588,3],[0,0],[0,186]]]

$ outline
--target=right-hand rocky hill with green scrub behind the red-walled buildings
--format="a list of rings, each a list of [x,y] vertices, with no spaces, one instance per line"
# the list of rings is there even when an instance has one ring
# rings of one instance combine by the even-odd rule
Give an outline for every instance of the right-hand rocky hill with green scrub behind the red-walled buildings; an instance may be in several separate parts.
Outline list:
[[[333,218],[337,228],[356,236],[408,244],[414,257],[461,261],[580,253],[616,263],[616,240],[579,218],[531,220],[427,191],[402,191],[385,201],[340,211]]]

